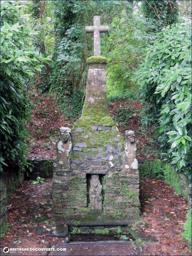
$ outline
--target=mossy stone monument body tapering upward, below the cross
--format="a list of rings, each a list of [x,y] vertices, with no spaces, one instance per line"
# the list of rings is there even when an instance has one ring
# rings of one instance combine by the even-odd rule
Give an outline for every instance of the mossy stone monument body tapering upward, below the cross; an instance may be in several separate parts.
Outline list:
[[[139,217],[139,172],[125,168],[125,141],[109,116],[107,59],[94,56],[87,59],[87,64],[82,116],[70,134],[70,168],[53,171],[52,210],[69,225],[131,224]],[[102,200],[95,209],[90,198],[92,174],[99,179]]]

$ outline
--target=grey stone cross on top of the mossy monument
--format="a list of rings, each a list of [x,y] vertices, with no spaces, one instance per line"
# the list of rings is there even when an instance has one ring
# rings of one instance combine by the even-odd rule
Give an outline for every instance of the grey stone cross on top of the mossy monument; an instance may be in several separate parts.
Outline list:
[[[100,26],[100,16],[93,17],[93,26],[86,26],[86,33],[94,33],[94,56],[101,55],[100,32],[108,32],[109,26]]]

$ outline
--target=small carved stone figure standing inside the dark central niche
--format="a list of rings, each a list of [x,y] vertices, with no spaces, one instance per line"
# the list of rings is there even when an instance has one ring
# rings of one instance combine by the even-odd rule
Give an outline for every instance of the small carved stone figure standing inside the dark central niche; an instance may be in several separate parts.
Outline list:
[[[99,180],[99,174],[92,174],[90,180],[90,209],[102,211],[102,186]]]

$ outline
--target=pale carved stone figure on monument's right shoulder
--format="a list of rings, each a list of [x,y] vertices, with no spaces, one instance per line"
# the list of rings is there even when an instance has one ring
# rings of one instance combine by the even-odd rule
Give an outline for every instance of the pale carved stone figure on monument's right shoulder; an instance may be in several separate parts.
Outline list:
[[[138,162],[136,159],[137,153],[137,144],[139,141],[136,141],[135,132],[132,130],[125,131],[126,142],[124,144],[125,154],[127,156],[127,161],[125,162],[125,169],[138,169]]]

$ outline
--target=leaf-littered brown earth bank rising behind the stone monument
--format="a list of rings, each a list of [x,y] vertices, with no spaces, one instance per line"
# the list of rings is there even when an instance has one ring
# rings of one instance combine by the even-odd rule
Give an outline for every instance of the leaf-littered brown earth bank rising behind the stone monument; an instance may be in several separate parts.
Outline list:
[[[31,97],[30,100],[33,102],[34,108],[31,121],[26,126],[30,133],[28,159],[54,159],[56,158],[59,128],[62,126],[71,128],[73,122],[70,119],[65,119],[63,113],[55,104],[54,96],[39,95]],[[138,159],[157,158],[158,146],[153,138],[153,127],[145,129],[141,125],[140,109],[142,105],[140,100],[121,100],[110,103],[108,107],[110,116],[113,118],[115,118],[118,109],[132,109],[131,116],[124,127],[121,127],[118,123],[116,123],[116,126],[123,136],[126,130],[132,129],[135,131],[137,140],[139,140]]]

